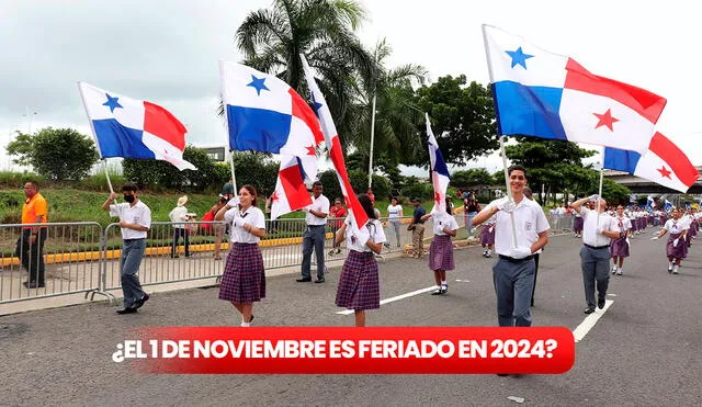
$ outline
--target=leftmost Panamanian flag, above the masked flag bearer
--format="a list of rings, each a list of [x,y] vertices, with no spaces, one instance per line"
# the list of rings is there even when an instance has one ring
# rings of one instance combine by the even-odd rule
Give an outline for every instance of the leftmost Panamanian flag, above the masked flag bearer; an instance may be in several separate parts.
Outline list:
[[[166,109],[86,82],[78,82],[100,158],[166,160],[179,170],[196,170],[183,160],[185,126]]]

